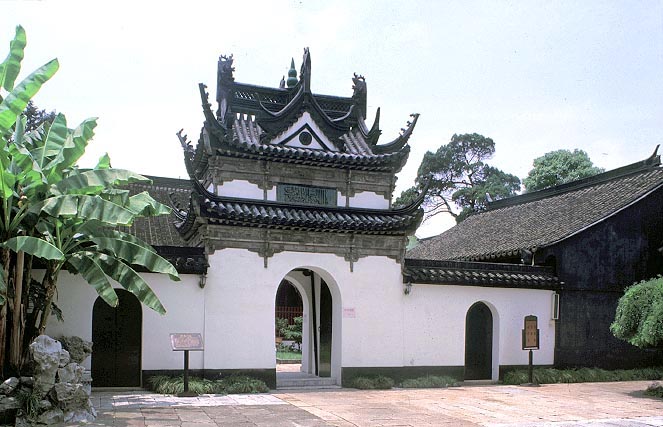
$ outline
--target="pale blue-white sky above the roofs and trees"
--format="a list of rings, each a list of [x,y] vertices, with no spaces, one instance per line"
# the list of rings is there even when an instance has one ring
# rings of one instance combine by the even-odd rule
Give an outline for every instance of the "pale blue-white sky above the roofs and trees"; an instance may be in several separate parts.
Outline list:
[[[315,92],[349,96],[352,73],[366,77],[385,141],[421,114],[397,194],[454,133],[493,138],[492,164],[521,178],[551,150],[580,148],[611,169],[663,142],[661,1],[8,1],[0,10],[4,52],[16,24],[27,31],[23,75],[60,60],[37,104],[72,126],[99,117],[88,164],[108,152],[117,168],[185,177],[175,132],[197,139],[197,84],[215,92],[218,55],[234,54],[236,80],[277,86],[305,46]]]

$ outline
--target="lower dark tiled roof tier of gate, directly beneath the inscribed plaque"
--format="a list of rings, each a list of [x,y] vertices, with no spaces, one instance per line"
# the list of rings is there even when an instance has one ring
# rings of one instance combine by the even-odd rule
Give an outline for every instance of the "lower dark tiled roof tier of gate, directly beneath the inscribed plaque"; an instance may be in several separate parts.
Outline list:
[[[362,234],[402,234],[416,229],[422,214],[419,209],[297,206],[224,197],[206,198],[200,203],[200,215],[218,224]]]

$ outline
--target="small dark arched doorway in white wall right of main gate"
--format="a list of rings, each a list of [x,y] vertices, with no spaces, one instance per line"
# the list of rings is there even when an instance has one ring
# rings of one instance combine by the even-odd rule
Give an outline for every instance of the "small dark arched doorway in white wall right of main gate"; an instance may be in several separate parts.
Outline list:
[[[465,379],[489,380],[493,374],[493,314],[477,302],[465,316]]]

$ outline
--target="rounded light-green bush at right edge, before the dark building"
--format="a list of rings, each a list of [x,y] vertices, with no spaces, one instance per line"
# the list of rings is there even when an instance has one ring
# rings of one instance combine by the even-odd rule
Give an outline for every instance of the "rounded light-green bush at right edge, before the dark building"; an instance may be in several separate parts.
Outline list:
[[[637,347],[663,347],[663,277],[643,280],[626,289],[610,331]]]

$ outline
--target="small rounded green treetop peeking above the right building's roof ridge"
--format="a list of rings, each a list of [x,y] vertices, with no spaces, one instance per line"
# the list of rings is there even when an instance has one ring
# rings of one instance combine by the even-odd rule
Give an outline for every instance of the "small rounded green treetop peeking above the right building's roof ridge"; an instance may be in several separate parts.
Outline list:
[[[534,159],[534,168],[523,179],[527,192],[543,190],[603,172],[583,150],[556,150]]]

